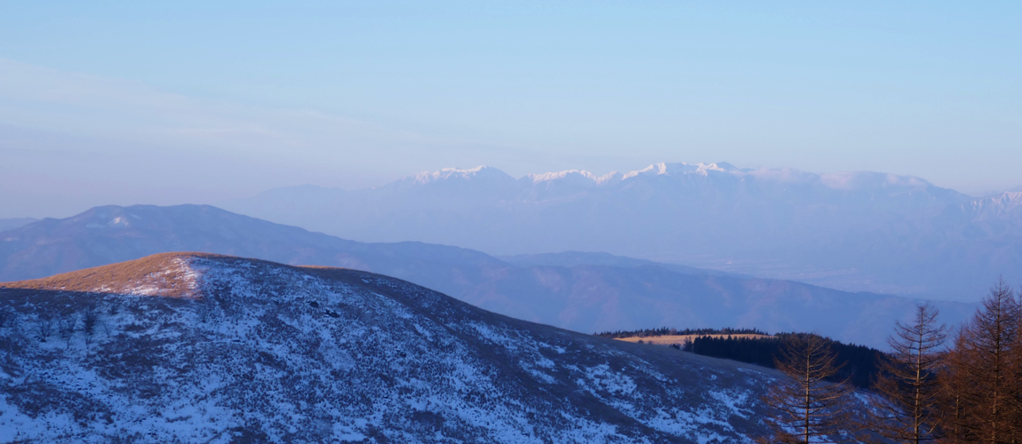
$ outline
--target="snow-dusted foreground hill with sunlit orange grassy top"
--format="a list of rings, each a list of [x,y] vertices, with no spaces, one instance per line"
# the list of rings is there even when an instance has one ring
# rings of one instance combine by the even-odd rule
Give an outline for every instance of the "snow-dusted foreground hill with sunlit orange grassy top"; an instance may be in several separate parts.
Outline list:
[[[208,254],[4,284],[0,313],[13,442],[740,443],[776,377]]]

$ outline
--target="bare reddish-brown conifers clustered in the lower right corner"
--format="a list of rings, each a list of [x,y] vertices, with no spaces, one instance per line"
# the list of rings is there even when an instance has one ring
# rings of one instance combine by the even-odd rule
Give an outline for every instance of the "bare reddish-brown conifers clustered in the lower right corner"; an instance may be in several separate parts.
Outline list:
[[[779,339],[785,378],[762,398],[773,434],[763,443],[1022,443],[1022,295],[1004,282],[957,332],[937,310],[917,307],[895,325],[879,362],[869,408],[854,402],[835,347],[812,335]]]

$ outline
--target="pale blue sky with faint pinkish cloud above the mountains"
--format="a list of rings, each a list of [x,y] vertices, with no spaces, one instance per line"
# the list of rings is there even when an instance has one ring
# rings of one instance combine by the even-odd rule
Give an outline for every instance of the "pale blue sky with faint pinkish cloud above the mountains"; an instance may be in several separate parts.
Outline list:
[[[215,3],[215,4],[214,4]],[[1022,186],[1019,2],[0,0],[0,217],[728,161]]]

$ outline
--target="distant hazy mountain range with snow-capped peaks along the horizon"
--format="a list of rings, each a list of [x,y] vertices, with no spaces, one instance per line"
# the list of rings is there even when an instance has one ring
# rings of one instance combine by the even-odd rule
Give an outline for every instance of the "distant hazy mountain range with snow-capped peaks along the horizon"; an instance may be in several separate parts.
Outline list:
[[[602,251],[846,291],[975,300],[1022,280],[1019,193],[726,162],[520,179],[477,166],[345,191],[274,189],[229,210],[367,242],[530,254]]]

